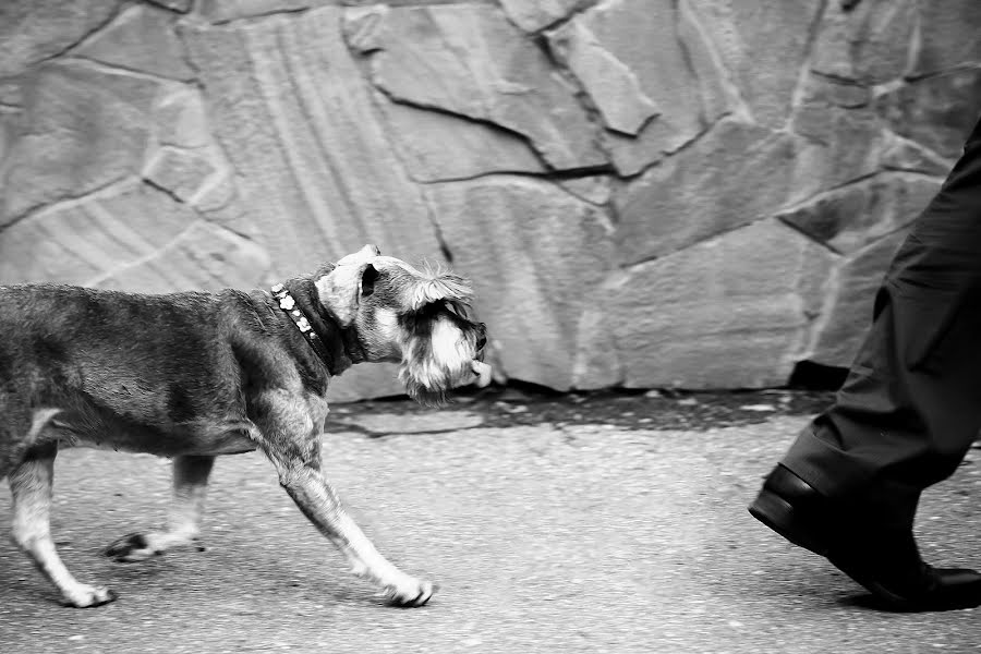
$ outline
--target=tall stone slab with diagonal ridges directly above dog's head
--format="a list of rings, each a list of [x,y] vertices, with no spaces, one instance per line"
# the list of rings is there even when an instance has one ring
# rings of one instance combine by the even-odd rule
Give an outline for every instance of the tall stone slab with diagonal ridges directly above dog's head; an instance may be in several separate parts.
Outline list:
[[[184,32],[215,135],[277,275],[313,270],[365,243],[400,258],[441,258],[422,193],[344,46],[341,12]]]

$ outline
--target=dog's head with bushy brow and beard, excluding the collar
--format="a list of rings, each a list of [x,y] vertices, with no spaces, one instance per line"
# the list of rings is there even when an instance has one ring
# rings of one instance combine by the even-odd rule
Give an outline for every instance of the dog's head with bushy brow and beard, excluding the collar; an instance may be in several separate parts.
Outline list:
[[[472,319],[470,283],[446,270],[417,270],[365,245],[316,280],[320,303],[353,330],[364,359],[399,362],[410,397],[439,404],[472,382],[486,386],[486,329]]]

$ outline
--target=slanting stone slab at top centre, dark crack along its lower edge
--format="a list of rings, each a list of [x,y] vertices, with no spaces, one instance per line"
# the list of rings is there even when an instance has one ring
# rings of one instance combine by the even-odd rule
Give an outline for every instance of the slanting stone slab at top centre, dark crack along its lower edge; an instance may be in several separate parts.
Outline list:
[[[517,132],[555,169],[606,162],[574,89],[496,8],[366,8],[348,16],[349,45],[392,99]]]

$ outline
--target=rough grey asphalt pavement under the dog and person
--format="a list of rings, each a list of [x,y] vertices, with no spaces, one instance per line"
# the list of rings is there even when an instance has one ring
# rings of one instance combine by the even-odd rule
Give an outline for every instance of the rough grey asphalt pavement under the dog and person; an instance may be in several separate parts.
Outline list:
[[[969,652],[978,610],[883,613],[824,559],[746,511],[813,393],[462,398],[335,407],[328,476],[378,548],[440,591],[386,606],[278,486],[261,455],[219,459],[204,552],[100,556],[165,516],[166,460],[69,450],[52,529],[114,603],[65,608],[0,542],[0,652]],[[977,450],[930,489],[934,564],[981,567]],[[0,521],[10,494],[0,489]]]

